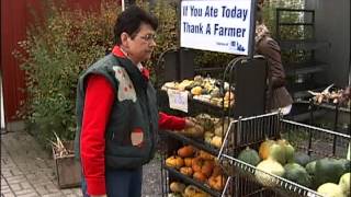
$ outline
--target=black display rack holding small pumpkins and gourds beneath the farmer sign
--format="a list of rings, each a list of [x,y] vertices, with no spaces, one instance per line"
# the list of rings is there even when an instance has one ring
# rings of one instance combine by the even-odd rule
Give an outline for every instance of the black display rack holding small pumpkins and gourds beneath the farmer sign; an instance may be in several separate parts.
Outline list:
[[[201,69],[196,69],[195,71],[201,71]],[[223,76],[223,81],[228,81],[229,86],[235,89],[236,99],[233,107],[224,108],[189,97],[189,113],[169,111],[168,95],[165,91],[160,91],[158,94],[160,108],[168,109],[168,112],[181,116],[195,116],[201,113],[207,113],[222,118],[223,121],[228,120],[228,117],[251,116],[264,113],[265,91],[268,89],[267,61],[261,56],[254,57],[254,59],[251,60],[245,57],[235,58],[228,63],[226,69],[224,69]],[[252,82],[248,82],[248,80]],[[222,84],[222,86],[224,88],[224,84]],[[172,155],[174,150],[182,144],[192,144],[213,155],[217,155],[219,149],[205,143],[202,139],[189,138],[176,131],[165,130],[161,131],[161,179],[163,196],[168,195],[170,181],[174,179],[194,185],[212,196],[230,196],[229,194],[231,194],[234,189],[234,186],[230,184],[231,177],[227,178],[225,189],[220,193],[165,164],[166,158]]]

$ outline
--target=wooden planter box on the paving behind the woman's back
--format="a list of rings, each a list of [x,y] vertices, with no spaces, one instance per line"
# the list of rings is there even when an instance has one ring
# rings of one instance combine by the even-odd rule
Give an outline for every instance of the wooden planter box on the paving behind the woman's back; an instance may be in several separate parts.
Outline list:
[[[73,142],[64,142],[68,154],[61,154],[53,146],[56,177],[59,188],[80,186],[81,169],[79,161],[75,158]]]

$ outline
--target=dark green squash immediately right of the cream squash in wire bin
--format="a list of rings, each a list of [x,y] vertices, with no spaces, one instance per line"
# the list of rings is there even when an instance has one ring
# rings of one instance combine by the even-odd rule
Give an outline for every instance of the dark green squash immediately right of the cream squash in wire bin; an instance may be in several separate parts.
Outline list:
[[[309,187],[312,179],[307,171],[297,163],[287,163],[284,165],[284,177],[299,185]]]

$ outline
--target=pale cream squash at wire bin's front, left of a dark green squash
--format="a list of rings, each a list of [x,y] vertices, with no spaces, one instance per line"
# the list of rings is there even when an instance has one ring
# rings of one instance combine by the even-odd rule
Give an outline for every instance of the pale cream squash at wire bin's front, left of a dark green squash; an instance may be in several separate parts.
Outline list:
[[[254,176],[257,181],[264,186],[271,186],[271,187],[275,185],[275,177],[267,173],[271,173],[278,176],[283,176],[285,172],[284,167],[278,161],[274,161],[272,159],[261,161],[257,165],[257,169],[259,170],[254,172]]]

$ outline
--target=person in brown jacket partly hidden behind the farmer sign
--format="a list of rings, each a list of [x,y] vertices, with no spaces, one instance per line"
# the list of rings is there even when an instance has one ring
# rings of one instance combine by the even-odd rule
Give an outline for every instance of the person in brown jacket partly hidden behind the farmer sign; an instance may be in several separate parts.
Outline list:
[[[257,5],[257,26],[254,36],[254,49],[264,56],[268,61],[270,91],[268,91],[267,106],[269,112],[281,111],[283,115],[291,112],[293,99],[285,88],[285,72],[282,65],[281,49],[279,44],[271,37],[269,30],[262,20],[263,1]]]

